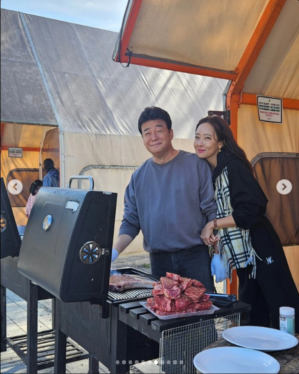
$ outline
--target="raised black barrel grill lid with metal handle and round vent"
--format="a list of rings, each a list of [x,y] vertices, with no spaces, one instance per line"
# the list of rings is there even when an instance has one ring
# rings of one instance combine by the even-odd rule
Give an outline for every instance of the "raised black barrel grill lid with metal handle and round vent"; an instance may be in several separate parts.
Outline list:
[[[71,189],[73,179],[90,190]],[[62,301],[107,299],[116,196],[93,191],[91,177],[42,187],[24,232],[18,270]]]

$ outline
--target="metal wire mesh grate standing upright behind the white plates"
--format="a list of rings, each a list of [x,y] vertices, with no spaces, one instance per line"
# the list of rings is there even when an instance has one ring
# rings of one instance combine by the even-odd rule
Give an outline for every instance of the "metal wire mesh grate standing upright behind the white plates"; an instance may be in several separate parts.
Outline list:
[[[222,337],[222,331],[240,325],[240,314],[209,319],[163,331],[160,373],[196,373],[193,358]]]

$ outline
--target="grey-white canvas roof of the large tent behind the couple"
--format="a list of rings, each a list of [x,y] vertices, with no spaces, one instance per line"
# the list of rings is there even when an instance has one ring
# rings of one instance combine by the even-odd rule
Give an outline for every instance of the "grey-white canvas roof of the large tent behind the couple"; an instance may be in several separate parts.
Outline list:
[[[156,105],[190,138],[197,119],[222,109],[226,80],[115,64],[115,32],[3,9],[1,34],[2,122],[136,136],[140,112]]]

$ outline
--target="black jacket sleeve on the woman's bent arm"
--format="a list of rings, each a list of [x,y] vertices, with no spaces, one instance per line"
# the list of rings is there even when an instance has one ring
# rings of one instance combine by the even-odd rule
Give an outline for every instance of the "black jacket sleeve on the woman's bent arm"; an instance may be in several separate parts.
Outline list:
[[[268,199],[251,172],[240,160],[228,166],[229,191],[237,227],[250,229],[266,213]]]

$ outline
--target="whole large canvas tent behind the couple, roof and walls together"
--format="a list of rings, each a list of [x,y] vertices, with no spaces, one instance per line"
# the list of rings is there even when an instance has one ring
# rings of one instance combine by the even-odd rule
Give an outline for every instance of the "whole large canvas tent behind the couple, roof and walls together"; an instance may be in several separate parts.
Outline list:
[[[222,110],[228,82],[123,67],[111,58],[117,36],[1,11],[1,176],[7,183],[30,169],[32,178],[41,179],[46,157],[60,169],[61,186],[71,175],[92,175],[95,190],[118,193],[115,235],[124,189],[133,170],[150,157],[138,132],[141,111],[146,106],[167,110],[173,145],[193,152],[195,125],[208,110]],[[21,147],[23,157],[9,157],[8,147]],[[26,189],[30,182],[23,183]],[[26,224],[23,205],[15,202],[13,210],[17,223]],[[142,250],[141,239],[131,248]]]

